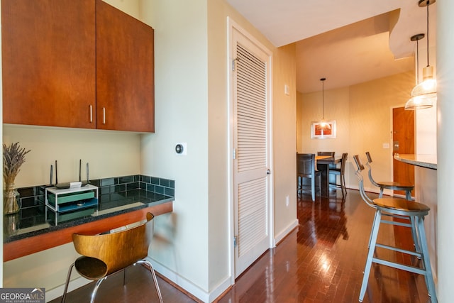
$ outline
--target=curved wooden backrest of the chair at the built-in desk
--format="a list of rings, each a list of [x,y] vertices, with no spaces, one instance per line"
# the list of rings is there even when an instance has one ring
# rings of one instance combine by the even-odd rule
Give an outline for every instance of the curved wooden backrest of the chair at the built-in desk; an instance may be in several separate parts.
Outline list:
[[[148,255],[148,246],[153,238],[151,228],[153,214],[138,226],[114,233],[82,235],[74,233],[72,241],[77,253],[99,259],[106,263],[106,275],[133,265]]]

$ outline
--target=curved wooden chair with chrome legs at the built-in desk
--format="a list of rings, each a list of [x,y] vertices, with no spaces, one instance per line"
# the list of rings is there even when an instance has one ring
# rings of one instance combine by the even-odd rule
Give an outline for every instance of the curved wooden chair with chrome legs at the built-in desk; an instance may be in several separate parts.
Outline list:
[[[148,255],[148,247],[153,238],[153,214],[148,213],[146,221],[138,222],[131,228],[112,233],[101,233],[97,235],[82,235],[74,233],[72,240],[74,248],[82,257],[72,263],[65,284],[62,302],[65,302],[72,268],[76,268],[82,277],[96,281],[90,302],[94,302],[96,292],[101,282],[109,275],[123,271],[123,279],[126,275],[126,268],[131,265],[143,264],[151,272],[155,283],[157,296],[162,302],[162,295],[157,285],[157,278],[153,265],[145,257]],[[124,284],[125,280],[123,280]]]

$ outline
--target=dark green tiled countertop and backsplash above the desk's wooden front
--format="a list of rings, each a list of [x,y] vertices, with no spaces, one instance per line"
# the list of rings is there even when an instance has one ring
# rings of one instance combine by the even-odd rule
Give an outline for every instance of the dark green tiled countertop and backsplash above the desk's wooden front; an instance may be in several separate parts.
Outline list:
[[[19,193],[23,197],[21,198],[21,211],[18,214],[4,216],[4,243],[86,224],[174,200],[172,195],[148,190],[152,180],[145,179],[146,176],[131,177],[131,180],[126,181],[121,178],[111,178],[114,181],[112,182],[109,179],[109,184],[103,184],[106,183],[104,180],[96,180],[98,182],[95,182],[95,184],[97,183],[96,186],[99,187],[98,204],[80,210],[79,214],[77,214],[78,211],[74,211],[72,212],[74,215],[65,219],[57,219],[60,217],[56,216],[61,213],[56,213],[45,205],[45,186],[19,189]],[[126,184],[124,189],[122,182]],[[171,191],[171,193],[173,192]]]

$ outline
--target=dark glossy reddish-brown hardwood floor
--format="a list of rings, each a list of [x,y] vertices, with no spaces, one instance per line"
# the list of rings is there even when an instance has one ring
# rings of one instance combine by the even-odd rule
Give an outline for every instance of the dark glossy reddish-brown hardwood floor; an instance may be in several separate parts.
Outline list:
[[[299,226],[243,272],[217,302],[358,302],[373,215],[355,190],[349,189],[344,200],[340,190],[329,199],[317,197],[316,202],[309,194],[299,195]],[[380,226],[379,241],[412,246],[408,228],[387,224]],[[418,262],[402,253],[381,249],[376,253],[389,260]],[[158,280],[164,302],[194,302]],[[122,283],[122,275],[104,281],[95,302],[157,302],[145,268],[130,268],[126,287]],[[70,292],[67,302],[89,302],[92,289],[89,284]],[[423,276],[372,265],[363,302],[430,302],[430,298]]]

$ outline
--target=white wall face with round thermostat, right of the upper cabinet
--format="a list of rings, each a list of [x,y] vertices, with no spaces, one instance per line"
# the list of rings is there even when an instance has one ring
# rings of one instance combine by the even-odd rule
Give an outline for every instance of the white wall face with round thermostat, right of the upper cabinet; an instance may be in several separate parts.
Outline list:
[[[172,214],[155,219],[155,268],[197,297],[208,282],[206,1],[143,1],[155,28],[155,133],[142,138],[143,173],[175,180]],[[175,143],[187,143],[187,155]]]

